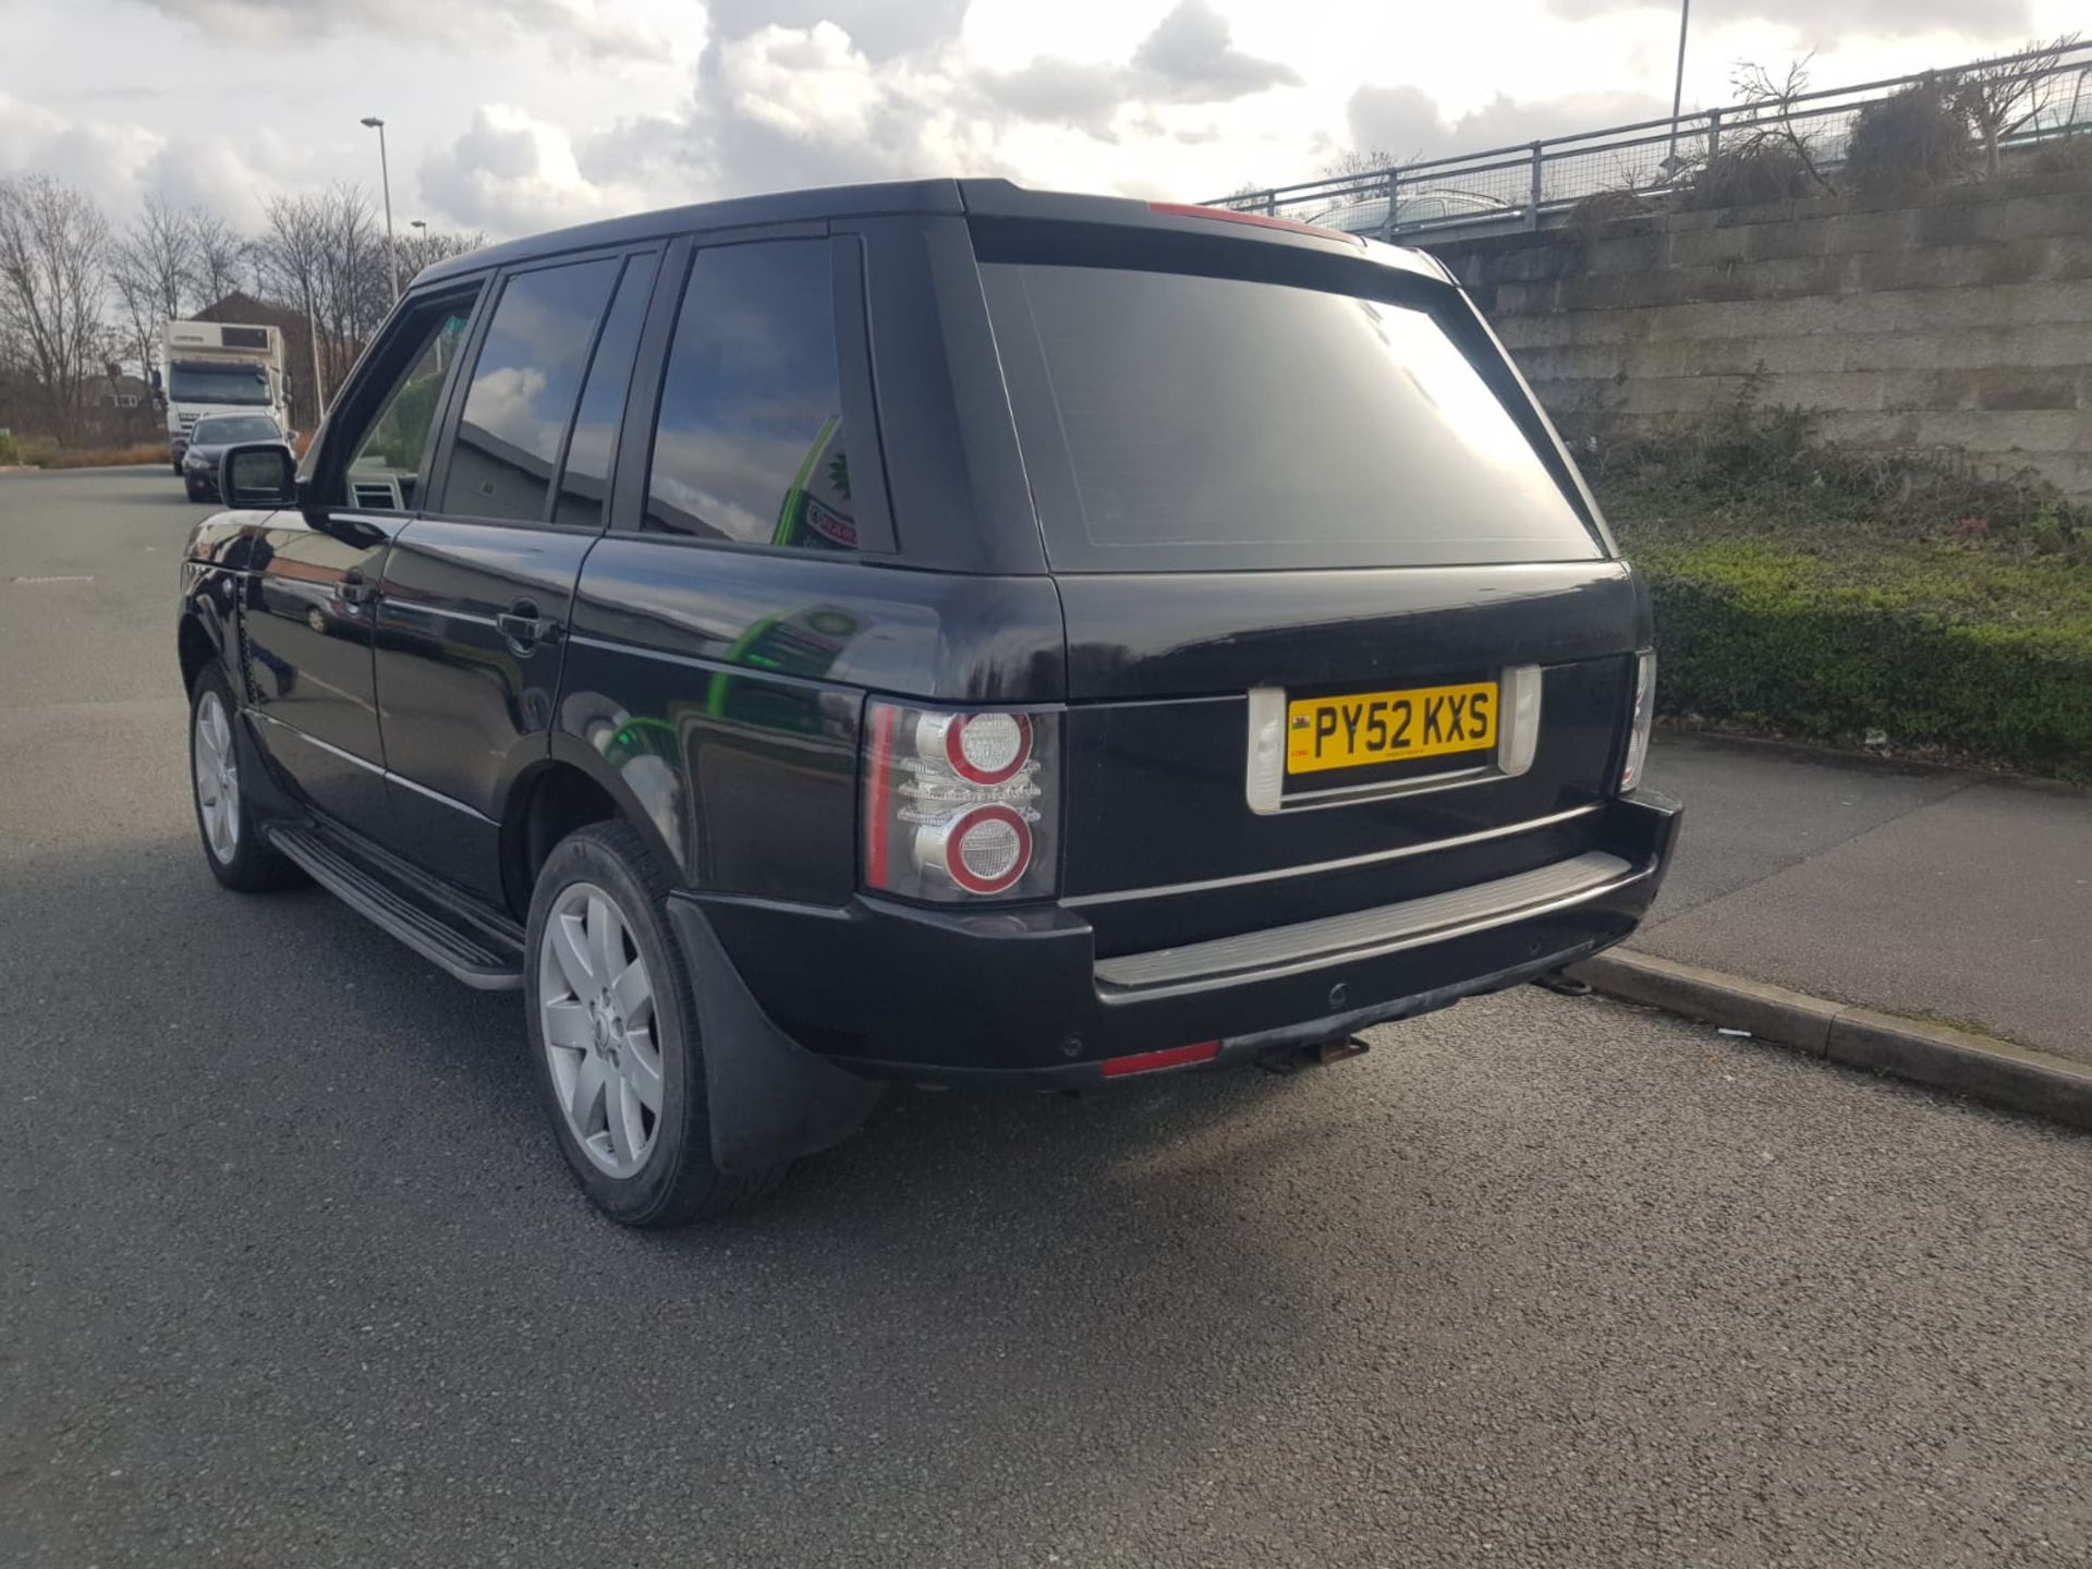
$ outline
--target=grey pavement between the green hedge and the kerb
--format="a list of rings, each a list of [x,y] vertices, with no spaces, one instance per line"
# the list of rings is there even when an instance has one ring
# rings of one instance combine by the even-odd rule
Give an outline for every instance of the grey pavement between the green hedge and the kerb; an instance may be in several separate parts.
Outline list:
[[[1632,948],[2092,1063],[2092,795],[1659,734],[1686,828]]]

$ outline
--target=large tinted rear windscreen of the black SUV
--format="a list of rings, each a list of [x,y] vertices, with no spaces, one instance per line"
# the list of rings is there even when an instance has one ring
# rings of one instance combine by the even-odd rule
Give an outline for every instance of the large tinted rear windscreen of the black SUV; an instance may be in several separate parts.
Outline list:
[[[1420,303],[1031,262],[981,278],[1054,571],[1602,554],[1531,416]]]

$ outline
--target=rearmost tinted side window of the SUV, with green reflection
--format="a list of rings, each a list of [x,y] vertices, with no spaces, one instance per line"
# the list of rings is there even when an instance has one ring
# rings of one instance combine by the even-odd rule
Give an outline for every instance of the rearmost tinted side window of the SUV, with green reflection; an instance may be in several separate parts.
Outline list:
[[[697,253],[661,387],[646,527],[858,546],[826,241]]]

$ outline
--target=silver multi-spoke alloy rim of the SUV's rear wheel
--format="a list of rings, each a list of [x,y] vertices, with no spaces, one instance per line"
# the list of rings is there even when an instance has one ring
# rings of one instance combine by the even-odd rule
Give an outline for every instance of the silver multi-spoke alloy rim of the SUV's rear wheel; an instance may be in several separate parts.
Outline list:
[[[630,1178],[661,1132],[653,979],[617,902],[573,883],[538,943],[538,1021],[567,1132],[600,1172]]]

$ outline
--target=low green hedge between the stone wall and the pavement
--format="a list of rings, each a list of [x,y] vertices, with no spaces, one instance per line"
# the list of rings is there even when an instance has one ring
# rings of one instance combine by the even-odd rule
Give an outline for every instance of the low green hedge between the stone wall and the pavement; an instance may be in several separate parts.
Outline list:
[[[1933,745],[2092,778],[2092,573],[1981,554],[1864,567],[1759,540],[1630,550],[1672,713]],[[1864,577],[1862,577],[1864,573]]]

